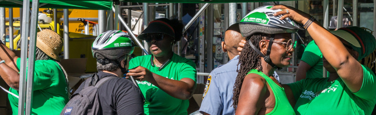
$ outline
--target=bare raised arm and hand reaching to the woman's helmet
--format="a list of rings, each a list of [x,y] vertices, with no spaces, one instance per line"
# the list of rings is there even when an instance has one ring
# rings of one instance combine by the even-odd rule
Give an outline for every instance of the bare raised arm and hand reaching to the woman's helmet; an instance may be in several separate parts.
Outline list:
[[[272,9],[284,9],[275,15],[286,14],[281,19],[291,18],[301,24],[305,24],[311,17],[290,6],[276,5]],[[286,10],[290,13],[287,14]],[[362,66],[344,47],[340,39],[323,28],[318,21],[312,22],[307,30],[323,53],[323,57],[334,67],[350,91],[359,91],[363,82]]]

